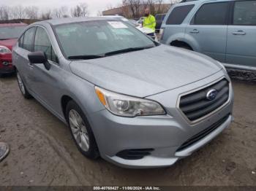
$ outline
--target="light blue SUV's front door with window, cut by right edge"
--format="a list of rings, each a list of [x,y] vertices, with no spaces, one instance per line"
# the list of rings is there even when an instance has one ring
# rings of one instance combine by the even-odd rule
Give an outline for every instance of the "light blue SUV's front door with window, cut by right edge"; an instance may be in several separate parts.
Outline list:
[[[227,29],[226,63],[256,66],[256,0],[235,1]]]

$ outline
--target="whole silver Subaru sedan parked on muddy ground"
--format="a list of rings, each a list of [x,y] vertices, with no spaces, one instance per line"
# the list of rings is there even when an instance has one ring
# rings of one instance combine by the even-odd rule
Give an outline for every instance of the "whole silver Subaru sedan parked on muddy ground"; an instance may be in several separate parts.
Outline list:
[[[121,20],[34,23],[12,61],[23,96],[67,124],[83,155],[122,167],[173,165],[233,120],[221,63],[154,42]]]

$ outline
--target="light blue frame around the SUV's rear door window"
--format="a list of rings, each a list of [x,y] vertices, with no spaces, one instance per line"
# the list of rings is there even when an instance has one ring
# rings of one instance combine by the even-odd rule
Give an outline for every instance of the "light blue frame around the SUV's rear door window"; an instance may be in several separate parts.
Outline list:
[[[231,15],[230,12],[233,12],[233,11],[232,11],[232,5],[233,5],[233,3],[234,3],[233,1],[219,1],[219,2],[210,2],[210,3],[206,2],[206,3],[200,4],[200,6],[197,8],[197,10],[195,10],[194,16],[192,17],[192,19],[191,19],[189,25],[193,25],[193,26],[203,26],[203,25],[197,25],[197,24],[195,24],[195,17],[196,17],[196,15],[197,15],[197,12],[199,12],[200,9],[201,9],[204,5],[206,5],[206,4],[221,4],[221,3],[226,3],[226,4],[228,4],[227,12],[226,12],[226,15],[225,15],[225,24],[224,24],[224,25],[216,25],[216,26],[228,26],[229,23],[230,23],[230,15]],[[214,25],[209,24],[209,25],[205,25],[205,26],[214,26]]]

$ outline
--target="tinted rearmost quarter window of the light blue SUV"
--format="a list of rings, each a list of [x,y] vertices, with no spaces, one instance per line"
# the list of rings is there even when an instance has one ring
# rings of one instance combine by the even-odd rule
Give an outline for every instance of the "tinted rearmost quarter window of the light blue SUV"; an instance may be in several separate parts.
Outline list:
[[[175,7],[172,12],[170,12],[169,17],[167,18],[167,25],[180,25],[183,23],[184,19],[187,17],[191,9],[194,7],[194,4],[184,5]]]

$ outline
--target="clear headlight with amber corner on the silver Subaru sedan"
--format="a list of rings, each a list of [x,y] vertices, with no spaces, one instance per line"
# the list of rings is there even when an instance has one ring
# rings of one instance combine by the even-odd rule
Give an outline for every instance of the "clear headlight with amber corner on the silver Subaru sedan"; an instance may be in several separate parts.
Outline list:
[[[165,114],[165,109],[155,101],[113,93],[95,87],[99,101],[113,114],[124,117]]]

